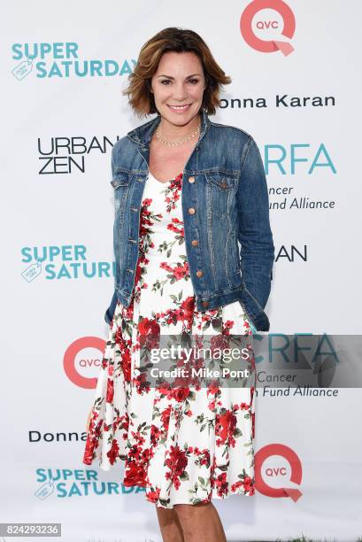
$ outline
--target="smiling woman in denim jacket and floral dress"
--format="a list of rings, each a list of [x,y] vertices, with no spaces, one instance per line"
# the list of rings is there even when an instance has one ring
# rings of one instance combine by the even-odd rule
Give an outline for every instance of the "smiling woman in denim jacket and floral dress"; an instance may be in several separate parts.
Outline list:
[[[209,120],[230,78],[195,32],[153,36],[129,81],[135,112],[158,116],[112,149],[115,290],[83,462],[126,461],[164,540],[220,542],[212,498],[254,494],[255,387],[151,387],[140,345],[269,329],[266,177],[252,137]]]

